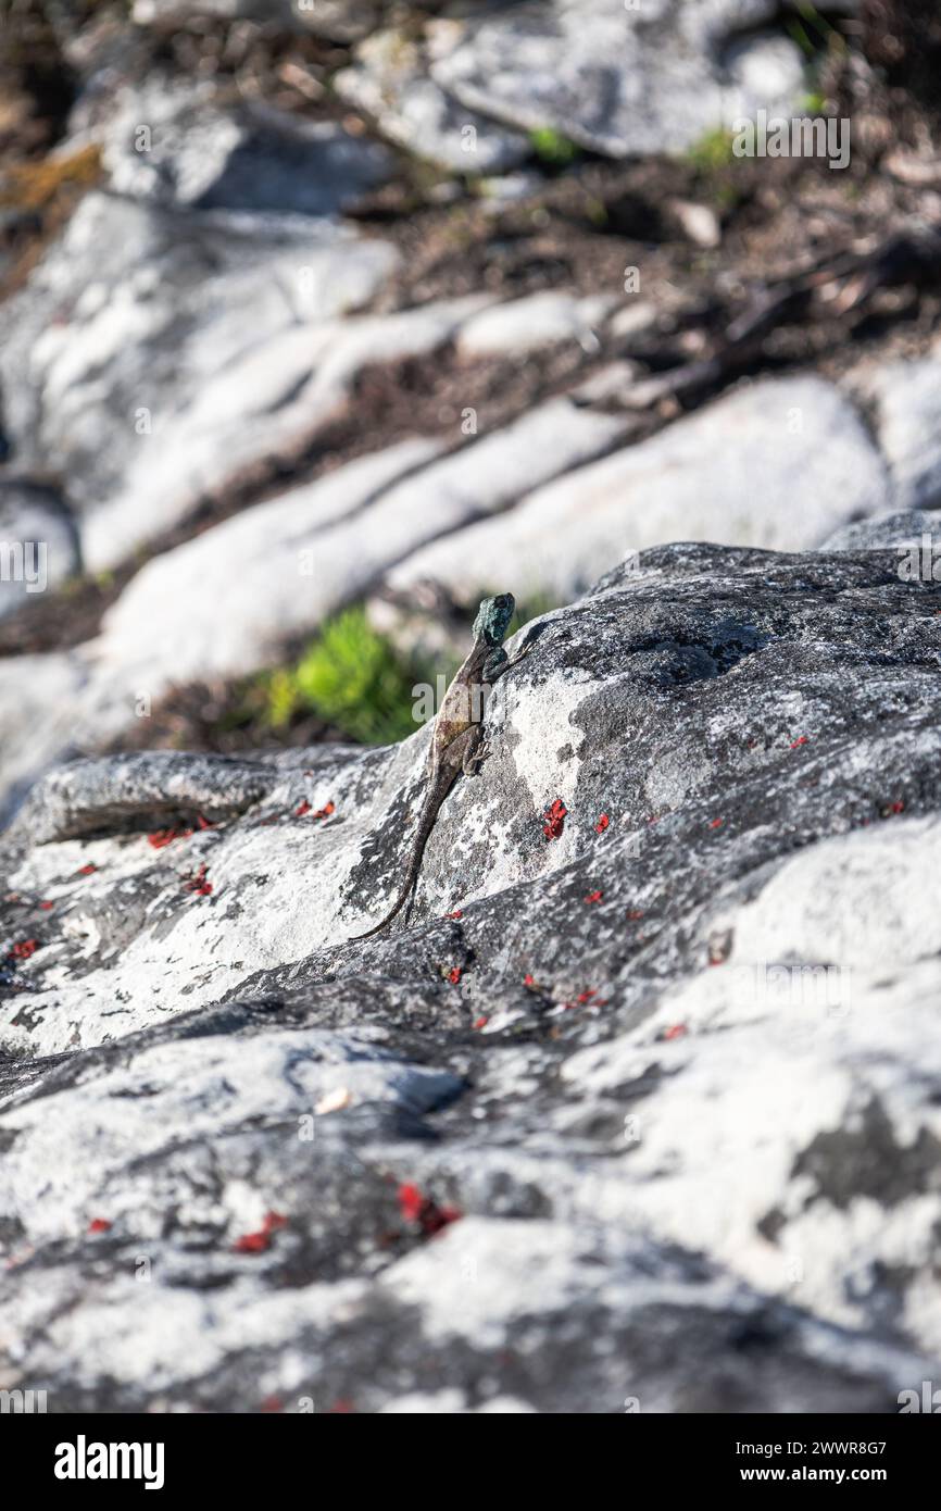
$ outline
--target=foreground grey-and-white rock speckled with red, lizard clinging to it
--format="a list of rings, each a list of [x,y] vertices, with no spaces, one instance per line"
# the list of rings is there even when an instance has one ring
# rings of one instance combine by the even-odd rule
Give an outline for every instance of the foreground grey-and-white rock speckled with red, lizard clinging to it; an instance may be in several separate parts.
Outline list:
[[[642,553],[512,642],[369,941],[427,733],[50,772],[0,857],[5,1384],[881,1413],[936,1378],[936,601],[891,552]]]

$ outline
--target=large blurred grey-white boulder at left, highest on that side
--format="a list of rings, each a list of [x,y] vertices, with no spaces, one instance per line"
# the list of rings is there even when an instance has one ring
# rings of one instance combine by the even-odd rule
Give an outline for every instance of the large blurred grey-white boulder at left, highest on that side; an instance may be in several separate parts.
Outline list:
[[[86,564],[113,567],[192,508],[175,435],[186,440],[187,411],[213,379],[299,325],[356,310],[394,261],[388,243],[326,221],[88,195],[0,305],[14,461],[68,477]],[[162,493],[145,506],[142,479],[157,467]]]

